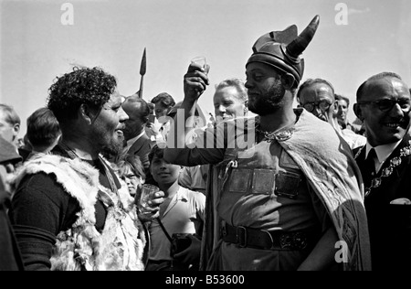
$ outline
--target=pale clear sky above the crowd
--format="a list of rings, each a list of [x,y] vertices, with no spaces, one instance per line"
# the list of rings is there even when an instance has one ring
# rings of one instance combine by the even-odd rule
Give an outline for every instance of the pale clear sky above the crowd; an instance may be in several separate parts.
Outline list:
[[[393,71],[411,85],[411,1],[408,0],[0,0],[0,102],[22,119],[47,104],[56,77],[74,66],[114,75],[122,95],[140,88],[183,100],[190,59],[204,56],[210,85],[199,100],[214,112],[221,80],[245,80],[254,42],[295,24],[299,33],[319,15],[320,26],[304,51],[302,80],[322,78],[349,97],[370,76]]]

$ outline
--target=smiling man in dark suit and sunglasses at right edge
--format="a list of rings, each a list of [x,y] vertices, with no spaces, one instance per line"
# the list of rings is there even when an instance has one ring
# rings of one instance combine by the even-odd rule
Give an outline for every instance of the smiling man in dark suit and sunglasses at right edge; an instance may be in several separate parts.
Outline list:
[[[367,144],[354,152],[364,178],[373,270],[411,269],[411,97],[395,73],[366,80],[354,112]]]

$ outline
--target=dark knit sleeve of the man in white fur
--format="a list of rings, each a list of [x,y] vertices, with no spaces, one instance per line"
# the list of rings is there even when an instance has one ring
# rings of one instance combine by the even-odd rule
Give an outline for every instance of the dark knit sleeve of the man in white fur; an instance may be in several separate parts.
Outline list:
[[[54,175],[25,177],[16,189],[9,210],[26,270],[49,270],[56,236],[77,219],[79,203]]]

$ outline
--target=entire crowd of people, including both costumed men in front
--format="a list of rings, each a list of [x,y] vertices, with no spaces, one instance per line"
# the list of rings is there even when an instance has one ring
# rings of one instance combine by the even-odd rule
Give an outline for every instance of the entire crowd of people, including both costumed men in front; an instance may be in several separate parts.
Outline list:
[[[181,102],[76,67],[21,144],[0,104],[0,270],[410,269],[410,89],[378,71],[350,123],[330,81],[302,82],[319,24],[258,37],[247,80],[216,85],[212,121],[197,103],[210,67],[195,63]]]

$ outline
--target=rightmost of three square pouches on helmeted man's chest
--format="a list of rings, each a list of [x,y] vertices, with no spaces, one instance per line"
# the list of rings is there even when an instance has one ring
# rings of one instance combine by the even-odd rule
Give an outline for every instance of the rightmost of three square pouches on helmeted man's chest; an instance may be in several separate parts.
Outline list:
[[[278,197],[297,198],[301,176],[293,172],[279,172],[276,176],[275,194]]]

